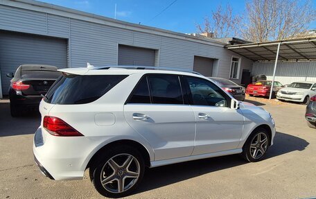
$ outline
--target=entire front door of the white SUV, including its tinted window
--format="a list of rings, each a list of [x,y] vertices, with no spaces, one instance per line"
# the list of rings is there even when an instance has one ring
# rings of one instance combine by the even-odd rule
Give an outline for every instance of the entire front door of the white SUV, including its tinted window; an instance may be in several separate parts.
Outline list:
[[[196,121],[192,155],[237,148],[243,133],[242,112],[231,109],[231,98],[211,81],[188,76],[184,79]]]

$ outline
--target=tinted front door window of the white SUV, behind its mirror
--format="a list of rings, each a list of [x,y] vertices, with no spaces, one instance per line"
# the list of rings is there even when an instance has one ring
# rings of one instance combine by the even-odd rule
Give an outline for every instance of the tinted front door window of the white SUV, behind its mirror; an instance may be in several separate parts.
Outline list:
[[[213,83],[193,77],[186,77],[190,87],[193,105],[227,106],[222,90]]]

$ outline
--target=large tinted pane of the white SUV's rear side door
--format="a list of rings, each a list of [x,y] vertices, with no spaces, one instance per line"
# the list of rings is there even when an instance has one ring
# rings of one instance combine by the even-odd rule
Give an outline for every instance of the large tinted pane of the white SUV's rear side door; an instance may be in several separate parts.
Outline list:
[[[184,104],[178,76],[149,75],[148,83],[152,103]]]

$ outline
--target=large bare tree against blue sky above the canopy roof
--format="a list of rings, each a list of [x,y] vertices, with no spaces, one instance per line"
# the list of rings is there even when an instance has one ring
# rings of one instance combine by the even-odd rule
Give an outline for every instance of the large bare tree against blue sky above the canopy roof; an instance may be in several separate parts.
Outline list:
[[[253,42],[283,40],[301,36],[315,19],[310,0],[247,0],[240,33]]]

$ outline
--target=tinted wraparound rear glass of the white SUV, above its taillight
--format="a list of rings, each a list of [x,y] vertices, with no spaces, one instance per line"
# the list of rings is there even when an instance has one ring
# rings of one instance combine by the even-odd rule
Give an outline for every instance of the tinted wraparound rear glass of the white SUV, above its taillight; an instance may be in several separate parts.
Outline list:
[[[63,75],[51,86],[44,101],[61,105],[91,103],[126,77]]]

